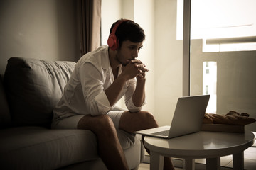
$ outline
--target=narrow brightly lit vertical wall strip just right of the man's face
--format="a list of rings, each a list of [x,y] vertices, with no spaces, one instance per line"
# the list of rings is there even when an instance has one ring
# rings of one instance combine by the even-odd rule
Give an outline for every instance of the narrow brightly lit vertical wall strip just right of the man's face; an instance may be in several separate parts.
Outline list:
[[[139,52],[139,60],[149,69],[149,72],[146,72],[148,103],[143,109],[155,114],[154,0],[134,0],[134,21],[144,28],[146,34],[146,40]]]

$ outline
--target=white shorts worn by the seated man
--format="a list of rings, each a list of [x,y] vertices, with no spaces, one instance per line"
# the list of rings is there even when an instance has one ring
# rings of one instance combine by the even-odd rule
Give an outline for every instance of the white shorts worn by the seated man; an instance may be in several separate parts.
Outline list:
[[[118,130],[119,129],[119,121],[121,118],[122,113],[124,111],[110,111],[107,115],[110,116],[114,123],[114,127]],[[55,121],[52,123],[52,129],[78,129],[78,122],[82,117],[85,115],[73,115],[68,118],[63,118],[61,120]]]

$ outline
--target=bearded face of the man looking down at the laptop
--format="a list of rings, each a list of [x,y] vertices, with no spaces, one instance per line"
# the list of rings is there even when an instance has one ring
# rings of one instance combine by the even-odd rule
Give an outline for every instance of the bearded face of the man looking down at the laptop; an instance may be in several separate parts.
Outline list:
[[[138,57],[139,50],[142,48],[143,42],[123,41],[122,46],[117,50],[117,60],[126,66],[131,60]]]

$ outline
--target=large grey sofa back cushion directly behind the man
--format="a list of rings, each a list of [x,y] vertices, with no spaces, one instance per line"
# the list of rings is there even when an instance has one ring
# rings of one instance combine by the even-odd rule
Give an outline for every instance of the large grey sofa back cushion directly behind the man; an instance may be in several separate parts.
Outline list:
[[[13,125],[49,126],[75,62],[11,57],[4,87]]]

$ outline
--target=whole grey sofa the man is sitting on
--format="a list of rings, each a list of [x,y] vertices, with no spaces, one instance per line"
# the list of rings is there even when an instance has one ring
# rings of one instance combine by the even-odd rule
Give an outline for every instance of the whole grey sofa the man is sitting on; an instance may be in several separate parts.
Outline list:
[[[1,169],[107,169],[90,130],[53,130],[53,108],[75,62],[11,57],[0,81]],[[117,130],[130,169],[144,159],[142,137]]]

